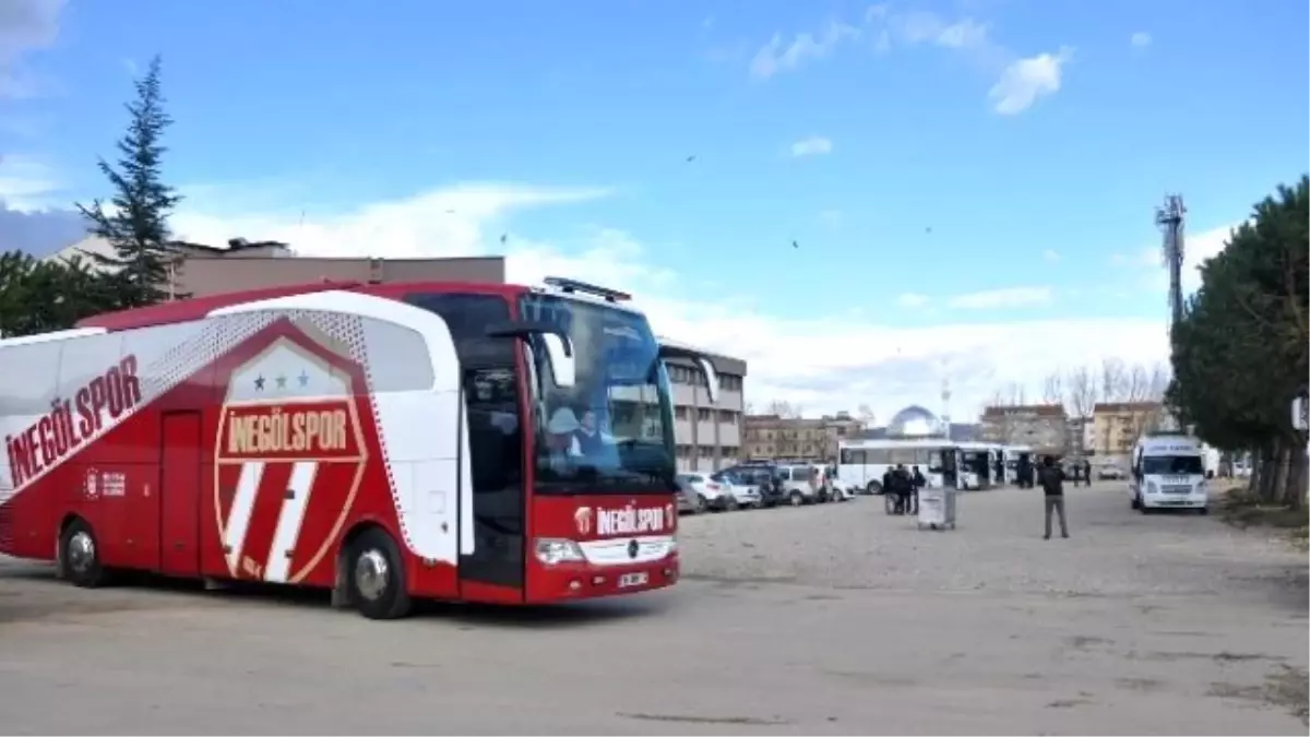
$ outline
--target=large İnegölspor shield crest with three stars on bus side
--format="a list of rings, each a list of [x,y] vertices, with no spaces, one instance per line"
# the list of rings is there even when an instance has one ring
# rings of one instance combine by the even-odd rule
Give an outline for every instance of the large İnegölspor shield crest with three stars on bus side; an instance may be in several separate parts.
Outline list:
[[[367,464],[354,375],[287,336],[232,371],[214,511],[234,578],[296,584],[328,555]]]

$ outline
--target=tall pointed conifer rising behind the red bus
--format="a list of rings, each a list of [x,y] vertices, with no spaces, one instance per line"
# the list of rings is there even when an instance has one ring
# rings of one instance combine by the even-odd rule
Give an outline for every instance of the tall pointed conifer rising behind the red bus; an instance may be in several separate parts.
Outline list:
[[[136,100],[127,104],[127,134],[118,142],[114,167],[100,160],[100,170],[114,188],[106,205],[96,199],[77,205],[92,235],[114,247],[114,254],[88,253],[114,283],[121,307],[141,307],[169,299],[177,254],[169,245],[168,216],[182,198],[161,180],[161,143],[173,119],[164,110],[160,58],[136,80]],[[179,295],[174,295],[179,296]]]

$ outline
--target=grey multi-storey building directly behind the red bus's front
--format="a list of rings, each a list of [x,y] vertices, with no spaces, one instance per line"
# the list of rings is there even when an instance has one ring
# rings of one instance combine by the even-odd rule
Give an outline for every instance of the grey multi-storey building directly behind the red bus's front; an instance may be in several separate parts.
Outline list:
[[[676,344],[660,337],[660,342]],[[703,349],[698,349],[703,350]],[[711,404],[705,374],[692,362],[668,365],[673,384],[673,438],[679,471],[718,471],[741,460],[745,361],[710,354],[719,375],[719,401]]]

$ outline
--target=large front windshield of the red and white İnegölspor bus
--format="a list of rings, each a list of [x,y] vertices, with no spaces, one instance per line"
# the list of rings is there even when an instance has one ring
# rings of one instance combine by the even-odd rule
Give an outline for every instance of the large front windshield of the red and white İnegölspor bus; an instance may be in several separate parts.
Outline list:
[[[673,490],[668,376],[646,317],[554,295],[520,298],[524,320],[563,328],[575,383],[557,387],[537,366],[536,490],[637,494]]]

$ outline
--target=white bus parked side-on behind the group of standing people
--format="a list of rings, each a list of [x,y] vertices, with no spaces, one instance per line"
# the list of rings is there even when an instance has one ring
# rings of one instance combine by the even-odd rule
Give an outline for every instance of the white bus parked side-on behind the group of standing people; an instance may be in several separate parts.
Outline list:
[[[896,464],[918,466],[933,487],[960,487],[960,443],[942,438],[844,441],[837,451],[837,479],[867,494],[883,493],[883,473]]]

